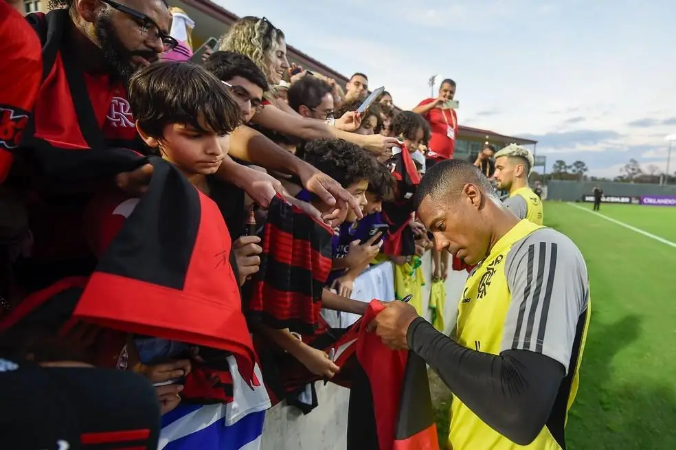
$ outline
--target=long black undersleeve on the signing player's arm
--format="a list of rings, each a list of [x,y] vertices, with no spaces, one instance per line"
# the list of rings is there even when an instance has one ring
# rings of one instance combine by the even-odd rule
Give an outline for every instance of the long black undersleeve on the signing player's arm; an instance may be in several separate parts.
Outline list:
[[[477,352],[422,317],[409,326],[407,341],[453,395],[512,442],[530,444],[547,423],[564,376],[561,363],[527,350]]]

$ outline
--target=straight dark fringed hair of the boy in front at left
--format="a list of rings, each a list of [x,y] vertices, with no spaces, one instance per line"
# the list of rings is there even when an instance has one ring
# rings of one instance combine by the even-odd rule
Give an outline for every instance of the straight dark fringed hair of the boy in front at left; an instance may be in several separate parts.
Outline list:
[[[152,137],[162,137],[169,124],[227,135],[241,121],[239,106],[221,80],[191,63],[164,61],[144,67],[132,76],[127,96],[139,128]]]

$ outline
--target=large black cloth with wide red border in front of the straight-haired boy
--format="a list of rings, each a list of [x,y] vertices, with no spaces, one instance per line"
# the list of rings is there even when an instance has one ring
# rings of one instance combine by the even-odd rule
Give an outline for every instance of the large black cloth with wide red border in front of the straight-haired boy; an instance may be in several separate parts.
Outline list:
[[[148,162],[148,190],[100,257],[74,317],[231,352],[251,381],[255,354],[221,212],[172,164]]]

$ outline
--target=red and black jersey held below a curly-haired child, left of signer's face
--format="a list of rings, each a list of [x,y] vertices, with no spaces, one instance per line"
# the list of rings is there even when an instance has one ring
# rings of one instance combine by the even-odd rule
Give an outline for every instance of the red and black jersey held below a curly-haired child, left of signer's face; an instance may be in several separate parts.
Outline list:
[[[412,256],[416,254],[416,240],[407,225],[412,219],[413,196],[420,184],[420,175],[405,146],[392,148],[390,164],[396,179],[396,192],[394,201],[383,203],[383,218],[390,225],[390,231],[385,236],[382,251],[387,255]]]

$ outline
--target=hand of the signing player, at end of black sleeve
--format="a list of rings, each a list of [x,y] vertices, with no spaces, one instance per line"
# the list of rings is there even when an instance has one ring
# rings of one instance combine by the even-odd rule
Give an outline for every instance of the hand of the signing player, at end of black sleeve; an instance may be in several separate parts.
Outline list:
[[[392,350],[406,350],[406,333],[411,322],[418,317],[416,308],[404,302],[383,303],[383,311],[366,326],[368,332],[375,332],[385,346]]]

